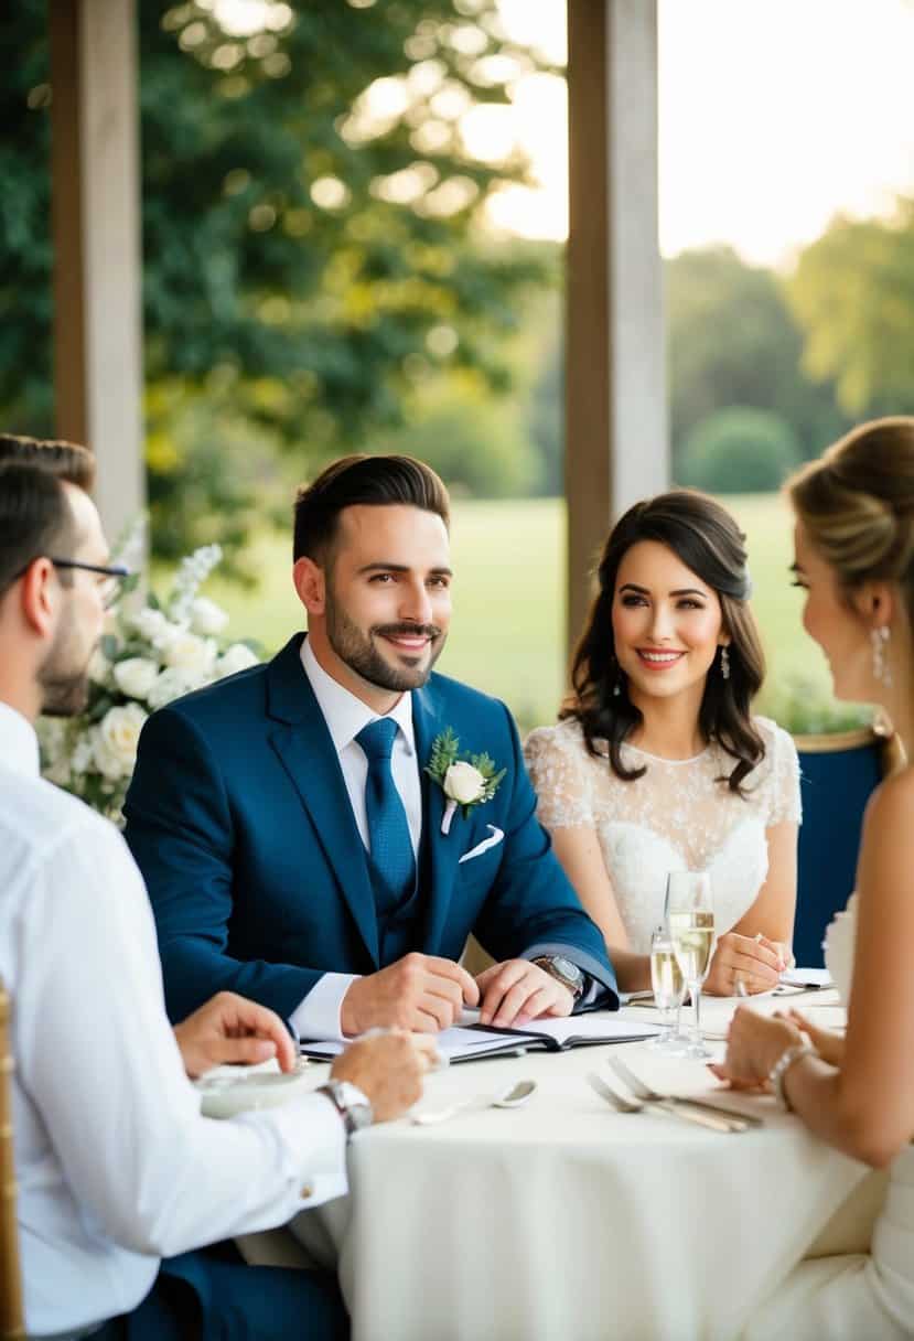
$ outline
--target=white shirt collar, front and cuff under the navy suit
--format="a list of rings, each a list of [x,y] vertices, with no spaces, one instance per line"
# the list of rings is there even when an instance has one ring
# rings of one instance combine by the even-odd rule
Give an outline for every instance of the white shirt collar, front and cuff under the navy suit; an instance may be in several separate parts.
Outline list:
[[[369,760],[355,738],[370,721],[378,721],[379,715],[327,675],[319,665],[307,638],[302,642],[302,665],[334,742],[362,842],[366,852],[370,852],[369,821],[365,810]],[[399,727],[390,756],[390,771],[406,810],[413,854],[417,856],[422,837],[422,786],[413,734],[413,696],[403,693],[389,716]],[[318,984],[292,1012],[291,1025],[299,1038],[343,1037],[339,1012],[343,998],[356,976],[354,974],[324,974],[319,979]]]

